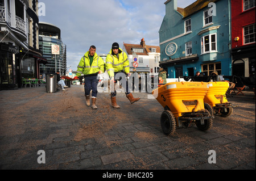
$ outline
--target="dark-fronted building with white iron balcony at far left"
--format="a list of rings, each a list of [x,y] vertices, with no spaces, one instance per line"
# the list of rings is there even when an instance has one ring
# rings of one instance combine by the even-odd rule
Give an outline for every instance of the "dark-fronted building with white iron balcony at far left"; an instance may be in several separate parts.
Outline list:
[[[39,65],[46,64],[37,11],[37,0],[0,0],[1,90],[21,87],[22,78],[39,78]]]

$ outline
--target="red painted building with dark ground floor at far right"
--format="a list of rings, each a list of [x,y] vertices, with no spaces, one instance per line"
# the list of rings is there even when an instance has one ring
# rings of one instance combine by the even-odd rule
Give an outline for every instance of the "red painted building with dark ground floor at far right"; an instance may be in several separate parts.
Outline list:
[[[255,0],[231,0],[232,74],[255,76]]]

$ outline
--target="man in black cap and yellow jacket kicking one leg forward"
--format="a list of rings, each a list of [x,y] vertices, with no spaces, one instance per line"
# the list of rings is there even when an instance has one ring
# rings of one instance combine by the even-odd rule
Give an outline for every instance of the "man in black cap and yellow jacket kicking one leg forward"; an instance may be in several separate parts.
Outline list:
[[[108,56],[106,57],[106,71],[110,77],[110,84],[114,85],[114,82],[120,81],[120,78],[115,79],[115,75],[121,72],[125,72],[128,77],[130,77],[130,65],[129,60],[127,58],[127,54],[123,52],[121,48],[119,48],[118,43],[113,43],[112,49],[110,50]],[[115,87],[115,86],[114,86]],[[131,94],[130,90],[128,89],[128,81],[126,79],[126,97],[130,100],[130,103],[133,104],[137,102],[141,98],[134,98],[133,94]],[[111,102],[112,107],[119,109],[120,107],[117,105],[115,96],[117,96],[117,92],[111,90]]]

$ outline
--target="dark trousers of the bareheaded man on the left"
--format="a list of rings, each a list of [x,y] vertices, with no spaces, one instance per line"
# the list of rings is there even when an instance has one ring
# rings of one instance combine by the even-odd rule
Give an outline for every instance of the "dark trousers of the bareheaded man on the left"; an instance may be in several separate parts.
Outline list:
[[[97,75],[85,77],[84,78],[85,96],[90,95],[90,91],[92,90],[92,97],[97,98],[97,94],[98,94],[97,85],[98,85]]]

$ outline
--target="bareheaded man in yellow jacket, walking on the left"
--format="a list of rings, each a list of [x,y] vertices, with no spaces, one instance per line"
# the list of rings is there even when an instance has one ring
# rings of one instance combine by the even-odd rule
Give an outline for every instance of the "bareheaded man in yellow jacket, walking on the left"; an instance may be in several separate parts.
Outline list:
[[[96,47],[92,45],[88,52],[81,58],[79,65],[77,66],[77,73],[75,79],[79,79],[84,74],[84,91],[86,105],[90,106],[90,91],[92,90],[92,108],[97,110],[97,85],[98,74],[104,73],[105,64],[100,56],[96,53]]]

